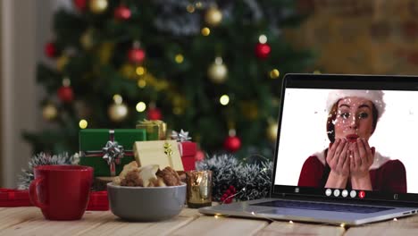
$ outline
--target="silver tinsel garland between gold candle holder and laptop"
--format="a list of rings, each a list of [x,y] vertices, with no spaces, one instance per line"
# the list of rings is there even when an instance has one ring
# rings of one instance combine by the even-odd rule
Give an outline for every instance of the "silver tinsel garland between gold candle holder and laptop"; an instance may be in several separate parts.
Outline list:
[[[218,155],[196,163],[196,170],[213,172],[212,194],[220,201],[226,190],[233,186],[238,194],[236,200],[264,198],[272,184],[272,162],[258,164],[240,163],[235,156]]]

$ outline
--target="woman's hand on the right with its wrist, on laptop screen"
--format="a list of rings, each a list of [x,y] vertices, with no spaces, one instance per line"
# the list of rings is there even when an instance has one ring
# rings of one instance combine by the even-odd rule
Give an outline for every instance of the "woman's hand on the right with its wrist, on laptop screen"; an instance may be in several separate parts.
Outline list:
[[[372,190],[369,168],[373,164],[374,155],[365,139],[357,139],[348,149],[351,184],[355,190]]]

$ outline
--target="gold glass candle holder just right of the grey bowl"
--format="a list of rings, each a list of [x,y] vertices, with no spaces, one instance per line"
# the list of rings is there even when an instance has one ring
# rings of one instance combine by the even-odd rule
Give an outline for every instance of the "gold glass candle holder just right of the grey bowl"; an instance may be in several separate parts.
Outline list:
[[[186,172],[189,208],[212,206],[212,171]]]

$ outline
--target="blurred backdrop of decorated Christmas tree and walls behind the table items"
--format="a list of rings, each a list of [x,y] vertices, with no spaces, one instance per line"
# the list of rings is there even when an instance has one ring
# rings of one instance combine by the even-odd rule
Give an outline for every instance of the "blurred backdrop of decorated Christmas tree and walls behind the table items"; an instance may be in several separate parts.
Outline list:
[[[413,0],[2,0],[1,185],[85,128],[163,120],[272,158],[288,72],[415,74]]]

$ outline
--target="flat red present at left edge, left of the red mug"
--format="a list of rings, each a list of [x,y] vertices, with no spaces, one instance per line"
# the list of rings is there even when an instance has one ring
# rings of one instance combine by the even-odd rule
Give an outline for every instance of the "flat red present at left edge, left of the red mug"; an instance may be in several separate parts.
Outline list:
[[[29,190],[0,189],[0,207],[33,206]]]

